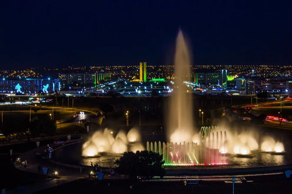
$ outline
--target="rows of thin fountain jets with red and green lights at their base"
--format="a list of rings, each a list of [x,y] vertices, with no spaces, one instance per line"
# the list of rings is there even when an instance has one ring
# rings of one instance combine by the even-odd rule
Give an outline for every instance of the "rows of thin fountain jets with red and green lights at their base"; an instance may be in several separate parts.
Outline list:
[[[214,129],[202,127],[191,142],[147,142],[146,150],[163,154],[168,166],[226,165],[226,132],[214,133]]]

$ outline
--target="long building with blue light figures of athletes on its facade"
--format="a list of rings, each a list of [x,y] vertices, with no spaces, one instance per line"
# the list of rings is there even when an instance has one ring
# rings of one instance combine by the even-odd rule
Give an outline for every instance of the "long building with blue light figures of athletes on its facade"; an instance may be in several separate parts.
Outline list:
[[[1,79],[1,93],[54,93],[60,90],[59,79],[24,78]]]

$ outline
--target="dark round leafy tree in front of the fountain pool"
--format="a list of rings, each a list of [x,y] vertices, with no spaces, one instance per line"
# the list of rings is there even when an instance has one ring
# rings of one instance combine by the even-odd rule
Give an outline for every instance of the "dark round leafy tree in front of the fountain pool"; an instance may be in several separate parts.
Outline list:
[[[151,179],[153,176],[165,175],[165,163],[162,155],[152,151],[125,152],[121,158],[116,160],[117,172],[129,175],[131,179]]]

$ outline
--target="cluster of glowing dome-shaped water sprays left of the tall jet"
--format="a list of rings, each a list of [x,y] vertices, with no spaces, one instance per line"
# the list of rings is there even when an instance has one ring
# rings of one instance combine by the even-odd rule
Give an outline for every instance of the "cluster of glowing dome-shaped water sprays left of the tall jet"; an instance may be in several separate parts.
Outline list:
[[[144,150],[140,143],[141,136],[139,130],[133,128],[128,134],[120,130],[116,137],[113,131],[107,128],[104,131],[96,131],[82,146],[83,157],[99,157],[100,154],[121,154],[128,150]]]

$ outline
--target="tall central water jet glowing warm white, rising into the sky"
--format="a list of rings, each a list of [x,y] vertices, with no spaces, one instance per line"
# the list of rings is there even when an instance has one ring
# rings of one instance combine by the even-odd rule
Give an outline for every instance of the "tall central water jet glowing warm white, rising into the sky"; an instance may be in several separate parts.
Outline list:
[[[170,97],[167,116],[168,138],[172,142],[191,142],[193,132],[193,106],[191,93],[186,92],[184,81],[190,81],[191,64],[189,48],[181,30],[178,31],[175,48],[174,92]]]

